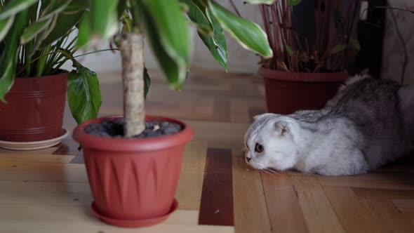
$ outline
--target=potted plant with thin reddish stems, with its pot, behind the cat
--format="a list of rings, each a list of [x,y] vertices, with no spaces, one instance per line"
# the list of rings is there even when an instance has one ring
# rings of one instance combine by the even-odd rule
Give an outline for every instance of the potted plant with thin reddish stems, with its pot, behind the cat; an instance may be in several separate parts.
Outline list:
[[[312,38],[299,36],[293,25],[295,8],[304,3],[278,0],[260,5],[274,53],[272,58],[262,58],[259,69],[265,80],[268,112],[290,114],[299,109],[323,107],[347,79],[349,51],[359,51],[358,41],[352,39],[352,29],[360,0],[312,1],[314,6],[306,9],[311,11],[314,22],[299,20],[307,29],[314,28],[314,34],[308,35]]]

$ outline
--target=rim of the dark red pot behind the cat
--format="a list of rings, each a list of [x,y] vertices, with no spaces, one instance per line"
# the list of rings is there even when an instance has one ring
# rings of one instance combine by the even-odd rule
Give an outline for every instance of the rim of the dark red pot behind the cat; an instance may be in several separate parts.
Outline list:
[[[260,67],[258,73],[266,79],[277,79],[283,81],[305,81],[305,82],[341,82],[348,78],[348,71],[332,73],[307,73],[286,72],[277,69]]]

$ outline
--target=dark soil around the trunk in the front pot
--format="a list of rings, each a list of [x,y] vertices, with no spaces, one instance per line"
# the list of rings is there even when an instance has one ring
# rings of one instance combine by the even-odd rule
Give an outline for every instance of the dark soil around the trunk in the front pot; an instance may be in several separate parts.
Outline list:
[[[110,119],[102,121],[99,124],[89,124],[84,131],[91,135],[98,135],[107,138],[155,138],[163,135],[171,135],[182,131],[180,124],[170,123],[167,121],[147,121],[145,122],[145,131],[140,135],[126,137],[123,133],[123,119]]]

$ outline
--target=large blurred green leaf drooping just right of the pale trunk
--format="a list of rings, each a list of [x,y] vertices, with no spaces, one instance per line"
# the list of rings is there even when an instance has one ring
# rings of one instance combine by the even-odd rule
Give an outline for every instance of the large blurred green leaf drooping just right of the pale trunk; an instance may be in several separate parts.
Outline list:
[[[163,49],[180,65],[187,65],[190,36],[187,21],[177,1],[142,0],[142,4],[154,22],[154,29],[159,34]]]

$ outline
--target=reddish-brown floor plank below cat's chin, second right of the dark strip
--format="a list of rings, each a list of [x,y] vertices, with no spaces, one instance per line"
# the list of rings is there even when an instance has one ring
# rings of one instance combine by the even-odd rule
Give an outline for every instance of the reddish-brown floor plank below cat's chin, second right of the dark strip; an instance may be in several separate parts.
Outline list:
[[[273,232],[308,232],[291,178],[286,173],[262,173]]]

